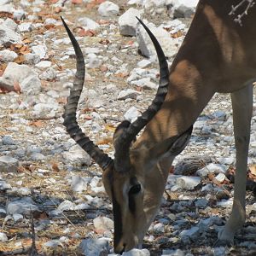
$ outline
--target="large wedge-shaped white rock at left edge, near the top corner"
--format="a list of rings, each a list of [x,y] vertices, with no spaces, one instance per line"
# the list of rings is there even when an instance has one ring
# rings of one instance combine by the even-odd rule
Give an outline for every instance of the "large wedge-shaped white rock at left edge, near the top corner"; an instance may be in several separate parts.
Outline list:
[[[8,26],[0,24],[0,45],[21,44],[20,34],[14,32]]]

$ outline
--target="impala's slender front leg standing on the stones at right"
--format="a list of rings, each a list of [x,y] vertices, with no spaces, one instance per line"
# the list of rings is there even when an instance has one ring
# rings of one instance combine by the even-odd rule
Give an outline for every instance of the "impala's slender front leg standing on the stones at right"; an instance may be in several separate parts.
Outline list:
[[[218,240],[233,243],[236,230],[245,223],[245,197],[247,183],[247,156],[253,113],[253,85],[231,93],[236,143],[236,177],[234,201],[230,219],[218,233]]]

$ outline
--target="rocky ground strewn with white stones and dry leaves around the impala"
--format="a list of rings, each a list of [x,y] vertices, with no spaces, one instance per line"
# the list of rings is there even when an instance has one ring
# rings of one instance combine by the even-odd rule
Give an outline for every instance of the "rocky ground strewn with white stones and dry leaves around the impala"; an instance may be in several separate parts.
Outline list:
[[[159,74],[154,50],[143,30],[135,36],[130,14],[152,22],[148,26],[171,64],[196,1],[104,2],[0,0],[0,255],[113,253],[111,204],[101,171],[62,125],[75,60],[60,15],[86,61],[79,123],[113,155],[115,127],[147,108]],[[136,10],[129,13],[131,7]],[[230,96],[216,95],[174,163],[145,249],[125,255],[255,255],[255,106],[254,99],[247,224],[235,246],[212,246],[230,214],[235,171]]]

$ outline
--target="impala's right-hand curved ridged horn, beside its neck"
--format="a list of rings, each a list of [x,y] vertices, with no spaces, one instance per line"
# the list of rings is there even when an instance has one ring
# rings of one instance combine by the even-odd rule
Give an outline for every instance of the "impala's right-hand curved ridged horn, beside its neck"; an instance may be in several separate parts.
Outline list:
[[[142,20],[139,18],[137,18],[137,20],[139,20],[146,32],[148,32],[148,36],[151,38],[151,41],[154,44],[154,49],[156,50],[160,66],[160,83],[151,105],[142,113],[141,116],[139,116],[133,123],[131,123],[131,125],[129,125],[129,127],[126,128],[122,134],[120,134],[116,142],[114,166],[117,170],[124,170],[124,168],[121,167],[121,162],[126,161],[125,165],[129,165],[130,158],[127,154],[129,154],[131,142],[136,138],[137,134],[143,129],[143,127],[145,127],[148,122],[154,118],[154,115],[160,110],[162,103],[165,101],[167,87],[169,84],[169,68],[166,61],[166,55],[161,49],[157,39],[154,37],[154,34],[148,29]]]

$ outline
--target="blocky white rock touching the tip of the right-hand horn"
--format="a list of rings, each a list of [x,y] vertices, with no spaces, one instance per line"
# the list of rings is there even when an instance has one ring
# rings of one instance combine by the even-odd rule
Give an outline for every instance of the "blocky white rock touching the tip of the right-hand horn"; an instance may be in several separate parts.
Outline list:
[[[119,17],[119,32],[123,36],[135,36],[138,18],[141,17],[142,10],[130,8]]]

